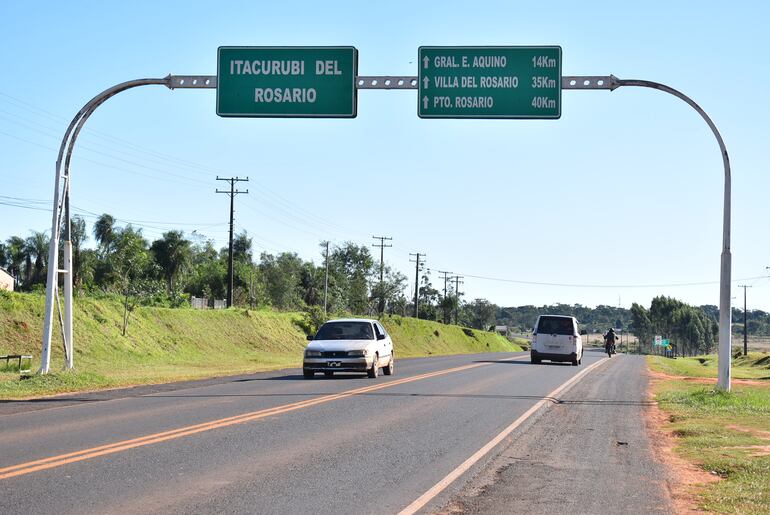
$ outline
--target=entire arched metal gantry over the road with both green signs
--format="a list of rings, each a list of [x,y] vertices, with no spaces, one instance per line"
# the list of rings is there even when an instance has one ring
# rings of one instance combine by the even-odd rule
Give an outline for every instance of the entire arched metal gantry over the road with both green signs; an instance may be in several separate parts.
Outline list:
[[[724,166],[722,255],[719,291],[719,376],[730,389],[730,160],[722,136],[703,109],[664,84],[624,80],[613,75],[562,76],[561,47],[421,47],[418,76],[357,76],[354,47],[220,47],[217,76],[172,76],[118,84],[88,102],[64,134],[54,177],[53,219],[48,257],[43,349],[40,373],[51,359],[51,333],[58,278],[64,276],[62,321],[66,366],[73,367],[72,246],[70,241],[69,165],[78,134],[94,110],[131,88],[162,85],[170,89],[217,89],[217,114],[254,117],[353,118],[359,89],[419,90],[422,118],[559,118],[561,90],[609,90],[623,86],[657,89],[685,101],[705,120],[717,139]],[[66,157],[65,157],[66,150]],[[62,160],[64,169],[62,170]],[[63,269],[59,269],[59,237],[64,220]],[[418,254],[418,261],[421,255]],[[415,290],[419,289],[416,282]],[[416,300],[416,299],[415,299]],[[416,302],[415,302],[416,308]]]

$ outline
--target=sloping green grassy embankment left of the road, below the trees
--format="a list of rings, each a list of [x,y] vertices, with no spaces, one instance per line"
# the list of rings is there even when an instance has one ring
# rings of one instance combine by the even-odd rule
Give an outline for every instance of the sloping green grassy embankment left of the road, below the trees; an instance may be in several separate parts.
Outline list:
[[[0,292],[0,355],[32,354],[40,364],[44,298]],[[75,302],[75,373],[19,379],[2,371],[0,398],[162,383],[299,367],[307,343],[301,313],[270,309],[193,310],[137,308],[121,335],[123,310],[116,300]],[[383,320],[398,357],[520,350],[483,331],[411,318]],[[52,370],[63,367],[60,326],[54,326]]]

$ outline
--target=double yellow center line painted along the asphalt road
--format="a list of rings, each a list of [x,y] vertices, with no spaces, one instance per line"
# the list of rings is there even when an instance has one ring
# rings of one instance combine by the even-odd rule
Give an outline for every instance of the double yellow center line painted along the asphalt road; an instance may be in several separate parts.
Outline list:
[[[513,361],[524,359],[525,357],[506,358],[501,361]],[[191,426],[184,426],[169,431],[163,431],[160,433],[154,433],[139,438],[133,438],[130,440],[121,440],[111,444],[100,445],[98,447],[91,447],[88,449],[82,449],[80,451],[74,451],[66,454],[60,454],[57,456],[51,456],[49,458],[43,458],[35,461],[28,461],[25,463],[19,463],[18,465],[12,465],[9,467],[0,468],[0,480],[10,479],[16,476],[22,476],[37,472],[40,470],[47,470],[55,467],[61,467],[70,463],[76,463],[78,461],[84,461],[98,456],[104,456],[107,454],[114,454],[117,452],[134,449],[136,447],[142,447],[145,445],[152,445],[156,443],[165,442],[168,440],[174,440],[183,436],[194,435],[202,433],[204,431],[211,431],[212,429],[218,429],[222,427],[233,426],[236,424],[243,424],[244,422],[251,422],[262,418],[280,415],[283,413],[289,413],[292,411],[309,408],[318,404],[324,404],[327,402],[352,397],[355,395],[362,395],[365,393],[382,390],[384,388],[390,388],[401,384],[411,383],[414,381],[420,381],[423,379],[429,379],[431,377],[442,376],[451,374],[454,372],[460,372],[463,370],[470,370],[481,366],[489,365],[489,363],[474,363],[471,365],[463,365],[455,368],[448,368],[446,370],[439,370],[437,372],[428,372],[426,374],[420,374],[413,377],[405,377],[403,379],[397,379],[387,383],[376,384],[372,386],[365,386],[363,388],[356,388],[354,390],[348,390],[346,392],[325,395],[323,397],[316,397],[314,399],[308,399],[291,404],[285,404],[283,406],[276,406],[273,408],[267,408],[259,411],[253,411],[250,413],[243,413],[240,415],[234,415],[232,417],[221,418],[217,420],[211,420],[209,422],[203,422],[200,424],[194,424]]]

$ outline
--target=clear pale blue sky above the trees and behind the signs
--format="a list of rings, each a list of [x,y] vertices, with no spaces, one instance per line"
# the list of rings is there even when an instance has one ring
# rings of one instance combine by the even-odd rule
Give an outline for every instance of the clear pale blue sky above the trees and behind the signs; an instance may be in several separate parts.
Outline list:
[[[352,45],[362,75],[416,75],[420,45],[561,45],[565,75],[664,82],[711,115],[733,167],[733,277],[756,278],[770,266],[768,5],[4,2],[0,195],[50,200],[56,150],[85,102],[129,79],[213,75],[220,45]],[[72,203],[89,221],[139,221],[149,239],[181,228],[223,246],[228,199],[214,179],[249,176],[236,223],[257,252],[318,260],[321,240],[388,235],[391,265],[411,278],[409,252],[427,253],[430,268],[467,276],[469,299],[718,304],[722,164],[683,102],[564,91],[561,119],[543,121],[421,120],[415,91],[358,102],[351,120],[225,119],[213,90],[122,93],[78,143]],[[46,229],[50,211],[0,205],[0,239]],[[744,282],[749,306],[770,311],[770,280]],[[679,283],[708,284],[646,286]]]

